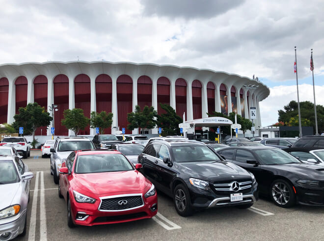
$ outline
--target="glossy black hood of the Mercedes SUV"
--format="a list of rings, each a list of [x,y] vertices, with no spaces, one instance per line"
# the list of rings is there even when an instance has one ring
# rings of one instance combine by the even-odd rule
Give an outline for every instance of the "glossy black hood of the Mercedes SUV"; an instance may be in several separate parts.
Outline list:
[[[205,181],[226,181],[238,179],[251,179],[248,171],[227,161],[219,162],[186,162],[177,163],[178,168],[193,178]]]

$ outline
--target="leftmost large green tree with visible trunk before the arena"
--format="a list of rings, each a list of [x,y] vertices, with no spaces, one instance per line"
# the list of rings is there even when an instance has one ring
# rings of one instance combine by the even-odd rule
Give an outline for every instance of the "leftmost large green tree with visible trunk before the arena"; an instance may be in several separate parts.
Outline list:
[[[18,111],[19,114],[14,116],[15,122],[12,126],[16,130],[19,130],[19,127],[24,127],[25,134],[32,134],[33,142],[35,142],[36,129],[41,126],[49,126],[53,119],[50,113],[36,102],[29,103],[26,107],[20,107]]]

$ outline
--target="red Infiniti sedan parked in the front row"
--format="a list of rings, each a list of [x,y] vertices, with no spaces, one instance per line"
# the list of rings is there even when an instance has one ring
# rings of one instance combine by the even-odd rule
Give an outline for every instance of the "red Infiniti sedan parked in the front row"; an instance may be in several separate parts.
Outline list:
[[[154,185],[116,151],[72,152],[59,169],[58,196],[67,202],[68,226],[151,218],[158,212]]]

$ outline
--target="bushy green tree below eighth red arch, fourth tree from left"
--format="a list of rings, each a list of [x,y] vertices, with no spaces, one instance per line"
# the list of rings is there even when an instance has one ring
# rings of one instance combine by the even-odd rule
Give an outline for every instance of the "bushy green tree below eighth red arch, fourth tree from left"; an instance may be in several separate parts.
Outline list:
[[[140,110],[139,106],[135,106],[135,112],[127,114],[127,121],[130,123],[127,126],[128,130],[134,130],[135,128],[141,129],[153,129],[156,126],[155,117],[158,113],[154,107],[145,106],[143,111]]]

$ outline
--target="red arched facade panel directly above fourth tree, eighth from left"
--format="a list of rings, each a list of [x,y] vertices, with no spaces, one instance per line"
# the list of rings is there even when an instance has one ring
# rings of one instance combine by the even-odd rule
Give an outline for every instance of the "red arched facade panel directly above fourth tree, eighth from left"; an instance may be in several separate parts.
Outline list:
[[[141,110],[152,106],[152,80],[145,75],[137,80],[137,105]]]

